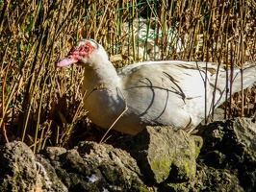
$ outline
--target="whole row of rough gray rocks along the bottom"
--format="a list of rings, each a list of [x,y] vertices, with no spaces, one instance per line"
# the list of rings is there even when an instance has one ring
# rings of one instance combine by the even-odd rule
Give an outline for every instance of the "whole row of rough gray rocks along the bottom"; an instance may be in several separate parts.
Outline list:
[[[13,141],[0,150],[0,191],[256,191],[255,139],[255,119],[237,118],[36,155]]]

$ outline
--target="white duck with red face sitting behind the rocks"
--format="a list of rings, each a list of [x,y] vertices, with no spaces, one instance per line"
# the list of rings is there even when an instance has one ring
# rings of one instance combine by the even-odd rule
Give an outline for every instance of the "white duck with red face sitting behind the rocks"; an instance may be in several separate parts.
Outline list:
[[[205,112],[210,114],[213,106],[218,107],[226,99],[226,71],[218,71],[216,63],[146,61],[116,72],[104,48],[92,39],[78,41],[57,66],[73,63],[85,68],[83,91],[90,94],[84,104],[88,116],[105,129],[112,126],[127,105],[115,123],[118,132],[136,134],[147,125],[170,125],[189,131],[205,118]],[[232,92],[241,90],[240,71],[234,71]],[[254,82],[256,65],[250,64],[243,69],[243,88]]]

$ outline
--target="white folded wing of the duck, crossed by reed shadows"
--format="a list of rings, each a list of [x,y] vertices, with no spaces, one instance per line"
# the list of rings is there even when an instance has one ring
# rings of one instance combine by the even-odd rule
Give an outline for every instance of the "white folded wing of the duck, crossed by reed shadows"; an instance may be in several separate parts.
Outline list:
[[[216,63],[181,60],[141,62],[118,73],[131,112],[178,128],[196,126],[225,101],[226,74]]]

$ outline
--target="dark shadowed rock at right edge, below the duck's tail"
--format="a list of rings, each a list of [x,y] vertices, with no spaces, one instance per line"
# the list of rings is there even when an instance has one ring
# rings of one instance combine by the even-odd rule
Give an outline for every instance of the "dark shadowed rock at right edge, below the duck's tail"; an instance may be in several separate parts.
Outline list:
[[[236,118],[214,122],[201,128],[198,134],[204,140],[197,159],[200,165],[228,170],[239,180],[234,182],[235,188],[256,191],[255,119]]]

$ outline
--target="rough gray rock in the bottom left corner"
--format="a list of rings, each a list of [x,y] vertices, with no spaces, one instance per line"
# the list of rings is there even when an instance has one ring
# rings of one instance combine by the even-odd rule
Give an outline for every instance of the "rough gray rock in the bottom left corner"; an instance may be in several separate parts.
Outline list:
[[[0,162],[0,191],[67,191],[61,181],[53,180],[58,179],[56,175],[50,175],[30,148],[20,141],[6,144],[1,150]]]

